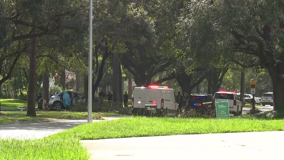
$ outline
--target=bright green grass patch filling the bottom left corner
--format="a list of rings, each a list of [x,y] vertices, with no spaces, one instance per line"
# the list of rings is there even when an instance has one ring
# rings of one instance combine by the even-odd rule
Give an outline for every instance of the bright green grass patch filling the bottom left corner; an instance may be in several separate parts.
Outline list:
[[[0,139],[0,159],[88,160],[90,154],[78,138],[49,136],[37,140]]]

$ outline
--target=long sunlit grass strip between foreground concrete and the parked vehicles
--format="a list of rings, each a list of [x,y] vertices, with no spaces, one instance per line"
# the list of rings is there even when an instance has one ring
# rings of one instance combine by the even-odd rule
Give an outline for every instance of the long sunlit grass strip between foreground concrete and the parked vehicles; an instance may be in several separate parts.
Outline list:
[[[284,130],[284,119],[265,120],[238,117],[232,119],[135,117],[83,124],[52,136],[75,136],[80,140],[96,140],[123,137],[282,130]]]

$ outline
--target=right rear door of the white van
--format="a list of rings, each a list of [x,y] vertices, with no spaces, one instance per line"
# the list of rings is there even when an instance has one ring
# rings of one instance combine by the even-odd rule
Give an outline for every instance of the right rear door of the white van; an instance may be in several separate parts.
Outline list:
[[[161,108],[161,99],[162,99],[162,92],[161,89],[157,88],[149,88],[148,89],[148,97],[147,97],[147,104],[148,105],[157,105],[157,108]]]

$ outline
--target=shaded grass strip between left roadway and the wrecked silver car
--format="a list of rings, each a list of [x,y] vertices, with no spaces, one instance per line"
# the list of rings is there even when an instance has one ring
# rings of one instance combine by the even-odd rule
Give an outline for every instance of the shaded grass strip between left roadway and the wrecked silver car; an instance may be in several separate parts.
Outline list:
[[[36,111],[36,117],[26,116],[27,111],[13,111],[2,112],[0,114],[0,124],[24,122],[24,121],[47,121],[54,119],[86,119],[88,117],[87,112],[56,112],[56,111]],[[98,116],[98,113],[93,113],[93,117]],[[109,116],[123,116],[116,113],[102,113],[103,117]]]

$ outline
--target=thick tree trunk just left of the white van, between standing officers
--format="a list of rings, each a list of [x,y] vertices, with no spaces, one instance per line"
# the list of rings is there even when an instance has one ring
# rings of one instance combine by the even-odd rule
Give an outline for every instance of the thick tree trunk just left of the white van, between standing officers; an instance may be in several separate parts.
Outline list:
[[[112,91],[113,91],[113,102],[122,103],[122,76],[121,68],[119,63],[119,54],[114,53],[113,55],[113,81],[112,81]]]

